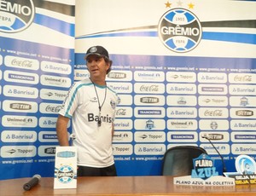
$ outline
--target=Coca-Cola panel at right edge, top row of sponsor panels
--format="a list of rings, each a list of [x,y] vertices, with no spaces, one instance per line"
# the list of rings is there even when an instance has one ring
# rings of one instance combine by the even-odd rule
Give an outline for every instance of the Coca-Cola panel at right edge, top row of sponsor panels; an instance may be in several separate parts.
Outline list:
[[[255,73],[230,73],[229,82],[231,84],[256,84]]]

